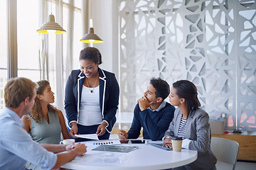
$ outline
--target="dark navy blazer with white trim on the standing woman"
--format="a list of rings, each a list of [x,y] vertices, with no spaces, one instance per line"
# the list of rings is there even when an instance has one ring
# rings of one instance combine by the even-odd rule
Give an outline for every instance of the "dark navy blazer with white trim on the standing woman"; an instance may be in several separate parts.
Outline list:
[[[119,85],[114,74],[98,68],[100,78],[100,111],[103,120],[109,125],[107,132],[111,132],[116,122],[117,106],[119,103]],[[65,86],[65,112],[68,119],[68,127],[70,122],[77,122],[79,117],[79,108],[81,101],[82,84],[85,80],[85,74],[80,69],[73,70],[68,77]]]

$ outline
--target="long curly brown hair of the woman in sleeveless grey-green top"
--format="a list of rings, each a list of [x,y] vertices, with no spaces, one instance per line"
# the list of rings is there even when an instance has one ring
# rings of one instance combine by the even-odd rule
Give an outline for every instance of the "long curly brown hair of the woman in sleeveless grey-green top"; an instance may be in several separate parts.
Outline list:
[[[46,89],[46,86],[50,85],[50,82],[47,80],[41,80],[41,81],[37,81],[38,84],[38,89],[36,90],[36,94],[43,94],[43,91]],[[50,104],[48,104],[47,106],[48,111],[57,111],[57,108],[55,108],[55,106],[52,106]],[[36,123],[41,123],[42,119],[43,119],[43,110],[41,108],[41,104],[39,101],[39,98],[36,96],[35,98],[35,103],[33,105],[33,108],[31,109],[31,114],[28,115],[29,118],[33,118],[33,120],[35,120]]]

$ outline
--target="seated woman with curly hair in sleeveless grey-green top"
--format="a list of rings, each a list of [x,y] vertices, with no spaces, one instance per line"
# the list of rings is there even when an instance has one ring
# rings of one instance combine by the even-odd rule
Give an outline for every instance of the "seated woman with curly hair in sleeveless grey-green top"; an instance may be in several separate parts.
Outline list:
[[[24,115],[21,120],[32,139],[38,143],[60,144],[60,134],[63,139],[70,138],[65,125],[63,113],[52,106],[54,93],[47,80],[37,82],[38,89],[30,115]]]

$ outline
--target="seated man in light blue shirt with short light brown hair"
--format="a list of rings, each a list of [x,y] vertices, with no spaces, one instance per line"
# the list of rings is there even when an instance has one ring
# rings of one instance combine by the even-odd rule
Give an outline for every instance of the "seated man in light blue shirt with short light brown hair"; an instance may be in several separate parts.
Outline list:
[[[26,169],[26,162],[42,169],[58,169],[86,152],[83,144],[39,145],[23,130],[21,117],[29,114],[37,84],[26,78],[10,79],[4,87],[6,108],[0,115],[0,169]],[[59,153],[58,152],[64,152]]]

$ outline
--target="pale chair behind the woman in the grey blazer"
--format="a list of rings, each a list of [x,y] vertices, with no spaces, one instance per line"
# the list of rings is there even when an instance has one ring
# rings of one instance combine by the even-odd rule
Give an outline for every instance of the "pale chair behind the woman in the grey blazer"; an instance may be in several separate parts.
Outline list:
[[[238,142],[220,137],[212,137],[210,142],[210,149],[217,158],[217,170],[235,170],[235,163],[238,159]]]

